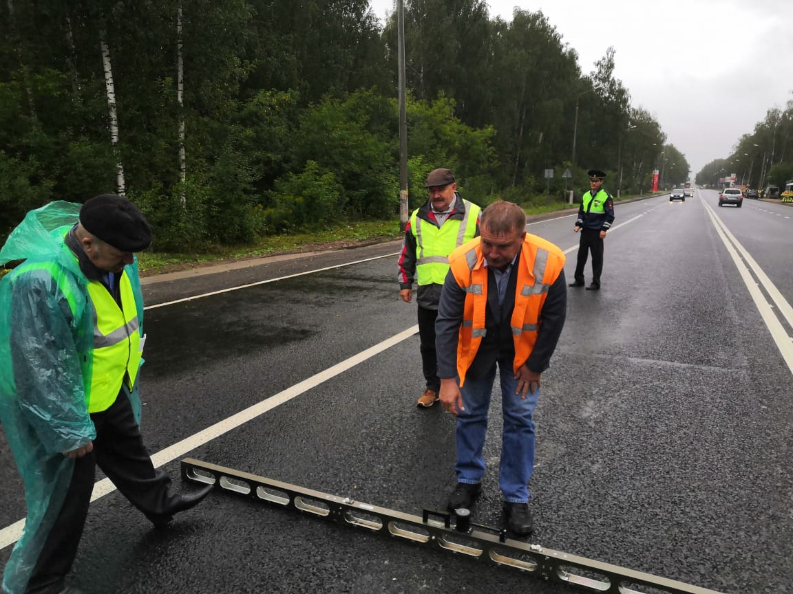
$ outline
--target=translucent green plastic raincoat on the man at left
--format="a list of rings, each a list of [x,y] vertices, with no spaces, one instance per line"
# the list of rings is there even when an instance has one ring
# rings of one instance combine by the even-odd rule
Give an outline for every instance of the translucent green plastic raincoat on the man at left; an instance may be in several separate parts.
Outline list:
[[[0,265],[24,260],[0,280],[0,421],[25,483],[28,516],[3,574],[9,594],[25,592],[71,482],[64,452],[96,438],[86,405],[94,348],[88,280],[63,243],[80,204],[30,211],[0,250]],[[143,336],[137,260],[125,267]],[[142,360],[141,360],[142,363]],[[125,390],[140,422],[137,385]]]

